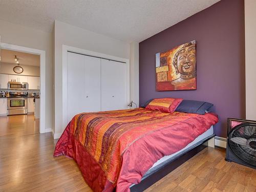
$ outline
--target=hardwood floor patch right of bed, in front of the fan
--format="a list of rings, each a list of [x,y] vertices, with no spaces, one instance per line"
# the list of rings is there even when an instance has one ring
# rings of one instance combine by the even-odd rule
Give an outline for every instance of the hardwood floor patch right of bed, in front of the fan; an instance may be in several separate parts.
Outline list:
[[[145,191],[256,191],[256,170],[224,159],[207,147]]]

